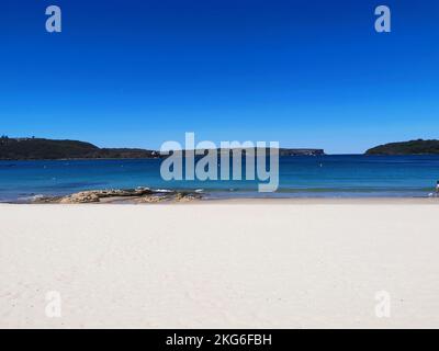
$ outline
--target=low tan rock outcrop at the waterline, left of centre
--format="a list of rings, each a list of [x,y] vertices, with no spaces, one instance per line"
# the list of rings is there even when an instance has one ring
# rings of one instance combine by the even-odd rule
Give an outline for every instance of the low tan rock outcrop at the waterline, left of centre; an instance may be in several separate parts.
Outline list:
[[[89,204],[89,203],[157,203],[200,200],[200,193],[190,191],[153,190],[149,188],[88,190],[66,196],[40,196],[35,204]]]

